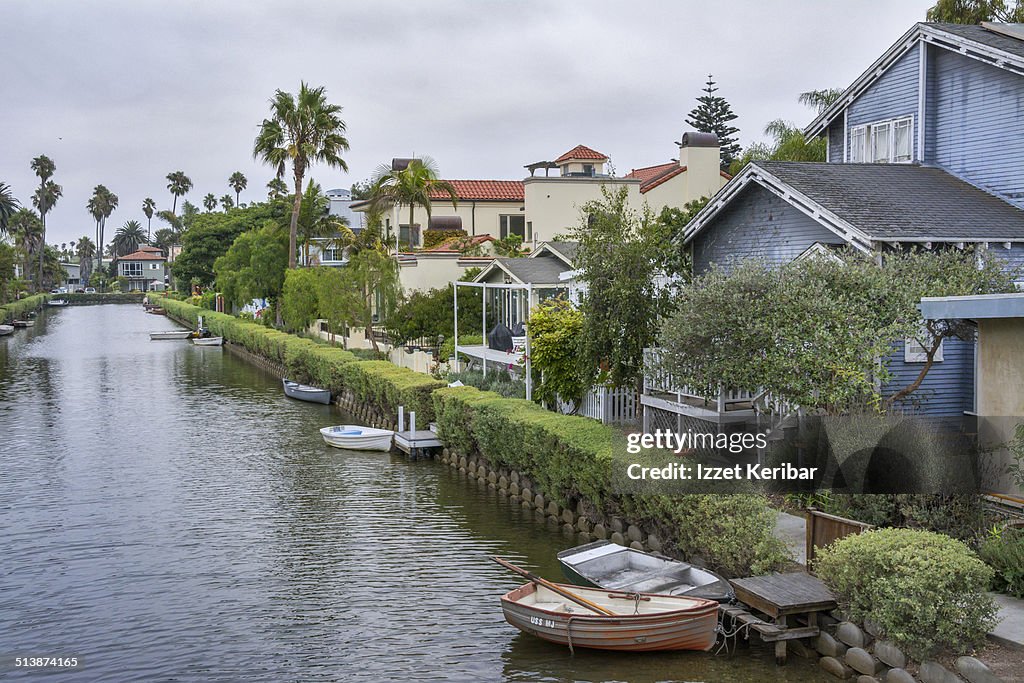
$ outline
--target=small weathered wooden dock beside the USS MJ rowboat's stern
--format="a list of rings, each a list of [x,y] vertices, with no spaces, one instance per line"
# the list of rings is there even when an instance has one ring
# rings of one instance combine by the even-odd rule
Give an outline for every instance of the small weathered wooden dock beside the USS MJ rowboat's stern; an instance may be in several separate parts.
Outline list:
[[[737,600],[766,614],[771,621],[766,622],[742,608],[728,605],[723,605],[722,613],[740,624],[750,624],[762,640],[774,642],[775,661],[780,665],[785,664],[785,642],[818,635],[818,612],[836,608],[831,591],[820,579],[804,571],[734,579],[729,583],[736,592]],[[791,616],[794,620],[806,618],[807,626],[791,625]]]

